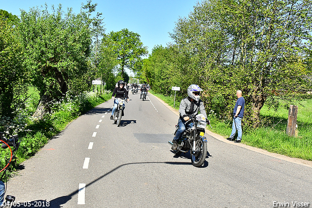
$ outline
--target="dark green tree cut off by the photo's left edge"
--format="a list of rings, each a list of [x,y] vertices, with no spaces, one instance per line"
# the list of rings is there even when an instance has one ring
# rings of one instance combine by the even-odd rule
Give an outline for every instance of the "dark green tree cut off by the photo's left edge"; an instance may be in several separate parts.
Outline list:
[[[23,51],[17,36],[17,16],[0,10],[0,115],[13,117],[27,93]]]

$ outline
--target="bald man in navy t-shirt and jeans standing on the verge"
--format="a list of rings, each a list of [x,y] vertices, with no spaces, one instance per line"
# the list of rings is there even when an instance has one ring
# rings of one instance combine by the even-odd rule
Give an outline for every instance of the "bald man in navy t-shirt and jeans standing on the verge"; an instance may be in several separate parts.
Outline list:
[[[227,140],[234,141],[234,135],[237,130],[237,139],[234,141],[234,143],[240,143],[242,140],[242,118],[244,117],[244,108],[245,108],[245,99],[242,97],[242,91],[237,90],[236,92],[237,101],[234,106],[233,111],[233,125],[232,125],[232,133]]]

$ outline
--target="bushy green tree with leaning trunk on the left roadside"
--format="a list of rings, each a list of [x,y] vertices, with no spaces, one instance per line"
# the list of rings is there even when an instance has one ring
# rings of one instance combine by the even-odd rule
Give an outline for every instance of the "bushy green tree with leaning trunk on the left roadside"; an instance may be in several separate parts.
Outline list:
[[[91,52],[91,13],[95,5],[88,1],[78,15],[68,9],[52,7],[49,13],[31,8],[21,11],[20,39],[23,44],[27,70],[40,93],[40,103],[34,116],[42,118],[52,99],[59,99],[70,90],[79,93],[88,88],[91,76],[87,59]]]

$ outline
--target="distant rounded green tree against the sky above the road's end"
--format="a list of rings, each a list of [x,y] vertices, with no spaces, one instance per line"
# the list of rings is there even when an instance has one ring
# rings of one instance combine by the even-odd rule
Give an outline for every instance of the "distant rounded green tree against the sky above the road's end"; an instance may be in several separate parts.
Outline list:
[[[108,38],[112,41],[112,49],[117,54],[121,77],[124,77],[126,68],[134,73],[140,71],[143,63],[141,57],[148,54],[147,47],[140,41],[140,36],[128,29],[122,29],[110,32]]]

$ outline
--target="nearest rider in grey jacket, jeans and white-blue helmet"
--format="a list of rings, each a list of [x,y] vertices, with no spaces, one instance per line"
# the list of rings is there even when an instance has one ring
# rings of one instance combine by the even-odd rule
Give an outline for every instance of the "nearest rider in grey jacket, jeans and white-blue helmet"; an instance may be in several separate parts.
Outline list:
[[[171,149],[176,150],[178,142],[181,139],[183,132],[186,129],[185,123],[190,120],[191,115],[197,115],[198,112],[203,114],[207,119],[204,103],[200,100],[200,91],[203,91],[197,84],[191,84],[187,88],[188,96],[182,99],[179,108],[180,118],[178,120],[178,130],[172,143],[174,144]]]

